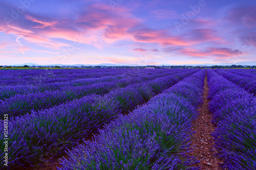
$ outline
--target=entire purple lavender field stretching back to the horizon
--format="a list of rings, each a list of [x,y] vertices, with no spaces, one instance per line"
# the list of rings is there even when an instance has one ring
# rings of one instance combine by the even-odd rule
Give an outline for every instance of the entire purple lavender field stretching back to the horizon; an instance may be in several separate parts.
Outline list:
[[[0,70],[0,169],[256,169],[255,95],[256,69]]]

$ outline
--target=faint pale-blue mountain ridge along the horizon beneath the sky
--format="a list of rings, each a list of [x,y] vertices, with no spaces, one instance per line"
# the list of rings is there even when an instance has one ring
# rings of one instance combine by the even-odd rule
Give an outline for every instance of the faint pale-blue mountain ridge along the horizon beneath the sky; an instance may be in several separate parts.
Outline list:
[[[198,65],[206,65],[206,66],[212,66],[212,65],[256,65],[256,61],[243,61],[243,62],[238,62],[238,63],[214,63],[214,64],[210,64],[210,63],[205,63],[205,64],[157,64],[158,66],[162,66],[162,65],[191,65],[191,66],[198,66]],[[10,65],[10,66],[24,66],[24,65],[29,65],[29,66],[138,66],[136,64],[112,64],[112,63],[102,63],[102,64],[45,64],[45,65],[40,65],[40,64],[36,64],[36,63],[24,63],[24,64],[14,64],[14,65]],[[142,66],[146,66],[146,65],[142,65]]]

